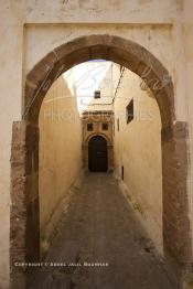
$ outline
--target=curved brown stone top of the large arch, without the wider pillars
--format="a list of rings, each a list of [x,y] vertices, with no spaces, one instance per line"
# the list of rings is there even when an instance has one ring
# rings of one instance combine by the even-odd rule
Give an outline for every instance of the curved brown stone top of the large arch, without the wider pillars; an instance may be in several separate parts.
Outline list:
[[[112,35],[87,35],[65,43],[42,58],[26,76],[23,119],[37,124],[43,98],[52,83],[74,65],[104,58],[138,74],[153,92],[162,127],[174,117],[173,85],[167,68],[141,45]]]

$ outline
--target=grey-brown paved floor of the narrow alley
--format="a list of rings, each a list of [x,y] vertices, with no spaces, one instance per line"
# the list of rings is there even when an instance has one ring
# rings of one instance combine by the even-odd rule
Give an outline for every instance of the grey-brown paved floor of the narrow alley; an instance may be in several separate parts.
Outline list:
[[[85,174],[73,192],[46,261],[63,266],[33,269],[28,288],[175,288],[117,181],[106,173]]]

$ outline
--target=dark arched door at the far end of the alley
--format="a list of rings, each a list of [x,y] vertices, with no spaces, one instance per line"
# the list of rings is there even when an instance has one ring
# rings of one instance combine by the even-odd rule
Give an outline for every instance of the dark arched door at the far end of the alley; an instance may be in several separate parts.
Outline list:
[[[88,169],[90,172],[106,172],[108,169],[107,141],[100,136],[88,142]]]

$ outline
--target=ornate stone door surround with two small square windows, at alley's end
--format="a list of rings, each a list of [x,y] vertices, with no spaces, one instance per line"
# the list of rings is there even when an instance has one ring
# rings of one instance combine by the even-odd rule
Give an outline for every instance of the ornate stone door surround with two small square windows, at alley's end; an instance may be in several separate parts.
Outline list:
[[[114,113],[108,111],[85,111],[82,114],[82,128],[83,128],[83,167],[85,171],[108,171],[114,170]],[[99,137],[98,139],[96,137]],[[104,138],[106,149],[103,144],[99,150],[93,150],[92,146]],[[93,140],[93,144],[92,144]],[[96,151],[96,156],[93,154]],[[94,152],[95,153],[95,152]],[[98,156],[97,156],[98,154]],[[99,158],[99,167],[95,165]]]

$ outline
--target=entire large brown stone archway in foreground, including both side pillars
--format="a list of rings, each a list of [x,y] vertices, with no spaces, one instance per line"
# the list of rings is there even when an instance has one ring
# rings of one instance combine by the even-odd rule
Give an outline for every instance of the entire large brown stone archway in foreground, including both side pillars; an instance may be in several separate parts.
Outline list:
[[[39,259],[39,111],[52,83],[72,66],[94,58],[114,61],[138,74],[158,101],[162,121],[163,245],[180,266],[191,259],[187,203],[187,126],[176,121],[171,77],[144,47],[112,35],[89,35],[65,43],[26,76],[23,120],[13,124],[11,185],[11,266],[14,288],[25,272],[14,261]],[[17,287],[18,285],[18,287]]]

